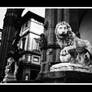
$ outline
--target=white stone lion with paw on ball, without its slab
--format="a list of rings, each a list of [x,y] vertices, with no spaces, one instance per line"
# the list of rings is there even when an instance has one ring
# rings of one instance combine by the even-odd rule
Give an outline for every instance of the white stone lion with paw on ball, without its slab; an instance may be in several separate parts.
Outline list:
[[[92,46],[88,40],[78,38],[72,31],[71,26],[65,21],[56,25],[55,34],[57,43],[61,47],[61,63],[79,66],[91,65]],[[58,65],[59,64],[56,66]],[[53,69],[53,67],[55,67],[55,65],[53,65],[51,69]]]

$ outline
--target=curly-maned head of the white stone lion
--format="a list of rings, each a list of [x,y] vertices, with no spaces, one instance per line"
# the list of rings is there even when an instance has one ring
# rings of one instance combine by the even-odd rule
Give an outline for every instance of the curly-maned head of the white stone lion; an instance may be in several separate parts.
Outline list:
[[[75,34],[72,32],[71,26],[67,22],[62,21],[58,23],[55,28],[55,34],[59,45],[69,46],[73,44]]]

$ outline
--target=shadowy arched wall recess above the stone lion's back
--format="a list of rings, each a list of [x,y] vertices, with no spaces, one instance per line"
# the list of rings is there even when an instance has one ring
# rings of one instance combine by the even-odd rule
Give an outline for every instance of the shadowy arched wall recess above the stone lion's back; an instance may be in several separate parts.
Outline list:
[[[89,40],[92,45],[92,9],[88,10],[87,14],[81,21],[79,32],[80,37]]]

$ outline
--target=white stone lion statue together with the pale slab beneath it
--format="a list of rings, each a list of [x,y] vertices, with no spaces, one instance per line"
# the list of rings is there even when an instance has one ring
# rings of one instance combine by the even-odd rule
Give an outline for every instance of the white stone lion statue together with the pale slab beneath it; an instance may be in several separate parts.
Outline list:
[[[61,48],[61,63],[52,65],[50,72],[81,71],[92,73],[92,46],[90,42],[78,38],[65,21],[56,25],[55,34],[57,44]]]

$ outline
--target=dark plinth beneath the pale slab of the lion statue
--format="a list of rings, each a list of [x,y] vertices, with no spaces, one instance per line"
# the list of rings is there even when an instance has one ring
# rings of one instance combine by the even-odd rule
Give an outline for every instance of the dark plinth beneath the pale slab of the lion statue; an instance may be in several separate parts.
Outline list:
[[[92,83],[92,74],[78,71],[58,71],[39,74],[40,83]]]

